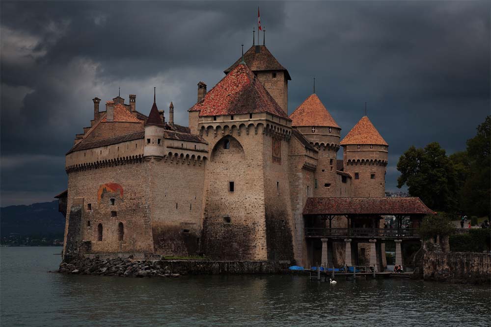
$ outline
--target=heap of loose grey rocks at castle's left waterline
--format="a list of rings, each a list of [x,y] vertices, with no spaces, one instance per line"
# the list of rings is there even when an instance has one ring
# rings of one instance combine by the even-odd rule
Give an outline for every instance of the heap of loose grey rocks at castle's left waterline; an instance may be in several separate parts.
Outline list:
[[[100,259],[83,258],[70,263],[63,262],[59,273],[72,275],[102,275],[119,277],[179,277],[182,273],[173,272],[165,261],[131,260],[123,258]]]

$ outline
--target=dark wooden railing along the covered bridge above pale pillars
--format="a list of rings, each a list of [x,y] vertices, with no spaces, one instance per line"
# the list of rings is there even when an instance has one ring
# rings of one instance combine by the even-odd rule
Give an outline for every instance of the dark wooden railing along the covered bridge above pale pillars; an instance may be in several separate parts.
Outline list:
[[[390,228],[322,228],[305,227],[305,236],[366,236],[366,237],[417,237],[417,229],[402,228],[400,230]]]

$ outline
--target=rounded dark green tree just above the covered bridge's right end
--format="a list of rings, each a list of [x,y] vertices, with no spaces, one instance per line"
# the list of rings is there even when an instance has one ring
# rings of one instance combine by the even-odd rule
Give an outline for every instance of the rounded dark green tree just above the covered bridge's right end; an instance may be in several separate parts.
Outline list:
[[[433,210],[457,210],[457,174],[454,164],[437,142],[424,149],[410,147],[399,158],[397,170],[401,172],[397,187],[406,184],[410,196],[419,197]]]

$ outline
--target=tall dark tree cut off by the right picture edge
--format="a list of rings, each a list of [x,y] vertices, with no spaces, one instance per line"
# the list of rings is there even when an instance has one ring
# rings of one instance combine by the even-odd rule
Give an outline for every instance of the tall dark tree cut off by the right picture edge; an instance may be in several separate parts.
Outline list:
[[[477,135],[467,140],[468,168],[460,191],[467,215],[490,217],[491,206],[491,118],[477,126]]]

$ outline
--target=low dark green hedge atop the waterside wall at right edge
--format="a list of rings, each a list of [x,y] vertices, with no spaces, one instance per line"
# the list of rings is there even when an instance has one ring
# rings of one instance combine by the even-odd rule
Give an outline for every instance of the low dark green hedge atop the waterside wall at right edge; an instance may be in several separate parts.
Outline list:
[[[469,229],[469,233],[450,235],[448,241],[452,252],[490,251],[490,229]]]

